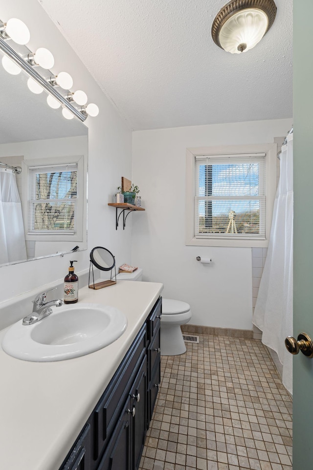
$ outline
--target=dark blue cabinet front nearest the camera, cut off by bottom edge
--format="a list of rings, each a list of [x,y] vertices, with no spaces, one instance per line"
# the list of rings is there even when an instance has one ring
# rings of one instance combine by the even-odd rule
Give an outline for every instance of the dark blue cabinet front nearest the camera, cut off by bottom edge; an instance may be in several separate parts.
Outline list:
[[[90,470],[90,424],[87,424],[60,470]]]

